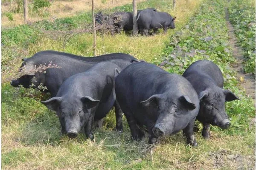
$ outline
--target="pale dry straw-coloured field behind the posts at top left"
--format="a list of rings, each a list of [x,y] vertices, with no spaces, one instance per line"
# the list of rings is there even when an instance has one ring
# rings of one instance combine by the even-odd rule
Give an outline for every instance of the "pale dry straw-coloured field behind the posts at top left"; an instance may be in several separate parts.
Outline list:
[[[137,0],[137,2],[142,2],[145,0]],[[17,7],[19,3],[23,1],[12,0],[12,5],[10,5],[10,0],[2,0],[2,28],[10,28],[14,25],[19,25],[24,23],[23,18],[23,7],[21,6],[20,12],[17,12]],[[89,11],[91,7],[91,0],[55,0],[51,1],[51,6],[49,8],[43,8],[40,10],[33,9],[33,2],[29,3],[29,23],[49,20],[52,17],[71,17],[84,11]],[[101,10],[106,8],[113,8],[115,6],[122,6],[124,4],[130,3],[130,0],[94,0],[95,9]],[[13,21],[10,21],[7,17],[11,14]]]

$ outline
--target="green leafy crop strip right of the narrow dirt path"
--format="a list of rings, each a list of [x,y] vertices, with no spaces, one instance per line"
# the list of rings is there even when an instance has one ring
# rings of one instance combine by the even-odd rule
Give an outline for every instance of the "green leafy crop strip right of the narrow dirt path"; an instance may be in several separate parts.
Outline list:
[[[244,71],[255,74],[255,0],[231,0],[228,9],[239,45],[244,50]]]

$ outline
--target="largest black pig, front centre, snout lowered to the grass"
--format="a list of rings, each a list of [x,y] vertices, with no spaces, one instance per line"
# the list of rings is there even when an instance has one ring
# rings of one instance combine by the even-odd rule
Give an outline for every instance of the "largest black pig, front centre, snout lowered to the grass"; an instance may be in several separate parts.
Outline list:
[[[157,142],[160,136],[183,130],[187,142],[197,146],[193,127],[199,100],[195,89],[184,77],[169,74],[147,62],[138,62],[116,77],[115,89],[133,139],[144,136],[137,126],[145,125],[149,144]]]

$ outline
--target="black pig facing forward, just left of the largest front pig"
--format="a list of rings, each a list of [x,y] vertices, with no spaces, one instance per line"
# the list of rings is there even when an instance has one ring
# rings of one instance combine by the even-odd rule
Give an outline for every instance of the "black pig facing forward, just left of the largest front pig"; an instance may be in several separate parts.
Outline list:
[[[128,66],[130,62],[126,61]],[[100,62],[89,70],[65,80],[55,97],[42,102],[57,112],[61,132],[75,138],[84,129],[93,139],[93,121],[106,116],[113,105],[116,108],[116,130],[122,130],[122,113],[116,101],[114,78],[121,71],[114,62]]]

